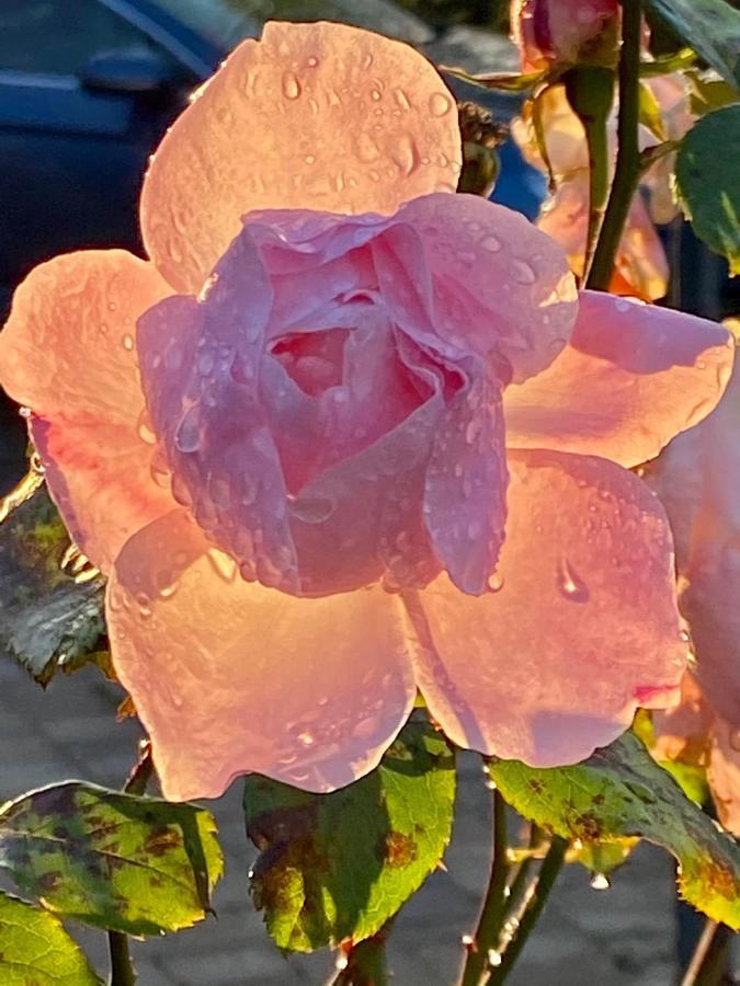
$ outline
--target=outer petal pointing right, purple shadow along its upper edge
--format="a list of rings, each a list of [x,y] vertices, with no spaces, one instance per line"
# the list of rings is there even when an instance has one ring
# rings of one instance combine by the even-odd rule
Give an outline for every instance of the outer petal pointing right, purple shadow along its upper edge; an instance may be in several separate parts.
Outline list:
[[[715,322],[582,291],[555,363],[504,391],[506,443],[637,466],[711,411],[732,358],[731,336]]]

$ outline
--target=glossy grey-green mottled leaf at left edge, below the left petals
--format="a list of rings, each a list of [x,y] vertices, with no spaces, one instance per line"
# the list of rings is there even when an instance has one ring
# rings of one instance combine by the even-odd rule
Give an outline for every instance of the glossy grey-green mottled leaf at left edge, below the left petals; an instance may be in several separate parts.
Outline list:
[[[0,652],[41,685],[59,669],[107,665],[104,580],[79,583],[62,571],[68,548],[43,486],[0,524]]]

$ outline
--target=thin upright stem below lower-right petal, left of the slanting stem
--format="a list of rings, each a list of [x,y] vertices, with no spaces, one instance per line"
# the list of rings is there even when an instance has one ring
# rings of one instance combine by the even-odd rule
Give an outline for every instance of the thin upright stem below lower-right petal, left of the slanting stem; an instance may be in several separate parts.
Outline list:
[[[460,986],[478,986],[488,968],[488,955],[499,943],[506,909],[506,878],[509,876],[509,841],[506,836],[506,803],[493,792],[493,861],[486,891],[486,899],[478,918],[473,941],[463,968]]]

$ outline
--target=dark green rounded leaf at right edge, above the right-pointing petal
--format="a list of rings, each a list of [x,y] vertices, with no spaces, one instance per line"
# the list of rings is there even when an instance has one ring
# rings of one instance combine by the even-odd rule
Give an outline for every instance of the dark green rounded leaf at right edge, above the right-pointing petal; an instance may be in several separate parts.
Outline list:
[[[740,105],[708,113],[684,138],[675,165],[679,202],[694,232],[740,274]]]

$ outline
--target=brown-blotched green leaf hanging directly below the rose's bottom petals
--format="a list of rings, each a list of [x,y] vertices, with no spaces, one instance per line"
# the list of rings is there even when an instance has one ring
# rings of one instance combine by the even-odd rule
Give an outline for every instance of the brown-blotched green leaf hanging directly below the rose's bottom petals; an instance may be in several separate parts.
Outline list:
[[[308,952],[375,935],[442,859],[454,799],[454,754],[415,719],[376,770],[332,794],[247,778],[251,891],[275,942]]]

